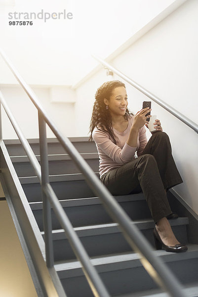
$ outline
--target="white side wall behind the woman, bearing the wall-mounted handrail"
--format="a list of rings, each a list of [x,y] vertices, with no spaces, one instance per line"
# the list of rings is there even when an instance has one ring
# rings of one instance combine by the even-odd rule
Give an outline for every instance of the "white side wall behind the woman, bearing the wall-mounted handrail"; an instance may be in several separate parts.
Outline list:
[[[160,99],[198,123],[198,1],[189,0],[111,63]],[[119,79],[116,75],[115,79]],[[101,70],[79,86],[77,131],[87,136],[96,89],[108,78]],[[137,112],[148,98],[126,84],[129,108]],[[175,191],[198,213],[198,135],[153,103],[153,114],[170,136],[173,156],[184,180]]]

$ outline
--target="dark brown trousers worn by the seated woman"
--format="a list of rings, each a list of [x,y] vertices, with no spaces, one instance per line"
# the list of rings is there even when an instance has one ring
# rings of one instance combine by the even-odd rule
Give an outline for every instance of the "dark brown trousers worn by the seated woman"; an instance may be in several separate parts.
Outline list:
[[[169,137],[160,131],[153,133],[141,156],[103,174],[100,180],[115,196],[142,191],[155,222],[172,213],[166,191],[183,183]]]

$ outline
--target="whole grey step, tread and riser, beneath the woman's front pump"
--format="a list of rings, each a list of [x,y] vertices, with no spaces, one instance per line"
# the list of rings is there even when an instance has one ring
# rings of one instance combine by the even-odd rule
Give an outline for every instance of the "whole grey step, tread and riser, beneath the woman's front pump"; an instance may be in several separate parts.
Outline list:
[[[189,250],[184,253],[154,251],[183,284],[198,282],[198,245],[188,247]],[[143,268],[137,253],[96,257],[91,262],[111,296],[158,288]],[[93,297],[79,261],[56,263],[55,269],[68,297]],[[75,286],[77,283],[78,286]]]

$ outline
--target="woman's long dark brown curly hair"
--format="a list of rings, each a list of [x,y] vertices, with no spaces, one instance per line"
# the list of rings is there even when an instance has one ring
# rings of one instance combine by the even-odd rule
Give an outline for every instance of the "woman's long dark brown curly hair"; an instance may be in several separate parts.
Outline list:
[[[105,82],[100,86],[95,93],[95,102],[93,105],[93,112],[91,116],[89,132],[91,135],[89,136],[89,142],[92,141],[92,132],[96,127],[103,132],[108,132],[112,137],[113,142],[116,144],[116,139],[114,135],[114,131],[112,128],[112,117],[109,109],[106,109],[106,104],[104,103],[104,98],[110,99],[112,92],[117,87],[124,87],[124,83],[119,80]],[[126,108],[124,118],[127,119],[130,116],[128,108]],[[100,128],[99,128],[100,127]]]

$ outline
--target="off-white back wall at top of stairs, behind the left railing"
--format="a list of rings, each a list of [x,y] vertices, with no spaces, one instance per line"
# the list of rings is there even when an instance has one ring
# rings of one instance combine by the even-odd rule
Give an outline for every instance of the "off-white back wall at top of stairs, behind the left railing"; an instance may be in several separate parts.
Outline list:
[[[32,101],[26,95],[21,87],[1,87],[0,88],[7,105],[11,109],[15,116],[19,126],[26,138],[38,138],[39,126],[38,126],[38,112]],[[61,92],[58,92],[61,91]],[[47,111],[50,118],[54,121],[59,130],[68,137],[72,137],[75,134],[75,100],[74,96],[71,98],[71,91],[67,92],[64,89],[63,102],[60,102],[62,97],[62,87],[51,88],[35,88],[33,91],[37,95],[40,103]],[[74,93],[74,91],[73,91]],[[68,96],[72,102],[66,102]],[[73,94],[74,95],[74,94]],[[56,101],[58,100],[58,101]],[[65,101],[65,102],[64,102]],[[3,139],[17,139],[17,135],[14,132],[7,115],[2,108],[2,132]],[[55,137],[54,134],[47,126],[47,137]]]

